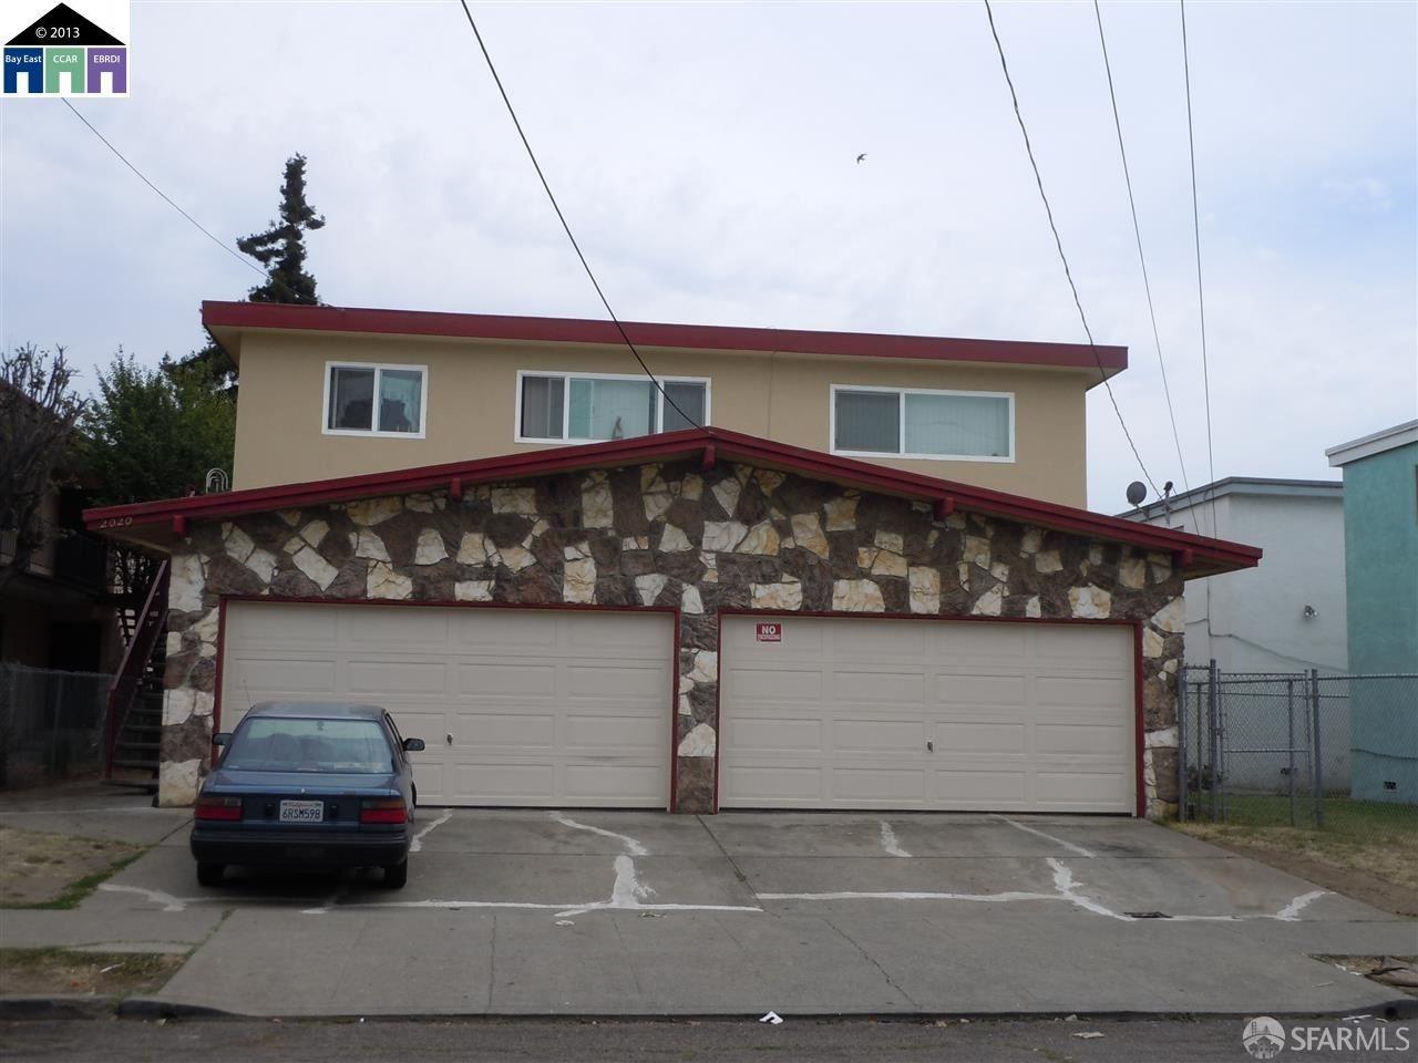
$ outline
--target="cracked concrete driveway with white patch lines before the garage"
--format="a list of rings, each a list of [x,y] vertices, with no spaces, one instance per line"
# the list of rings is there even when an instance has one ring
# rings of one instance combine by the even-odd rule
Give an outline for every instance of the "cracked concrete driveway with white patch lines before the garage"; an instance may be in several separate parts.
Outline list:
[[[1395,991],[1313,955],[1418,951],[1418,923],[1129,819],[420,809],[387,892],[204,890],[150,814],[147,856],[0,944],[196,945],[162,998],[247,1015],[1349,1015]]]

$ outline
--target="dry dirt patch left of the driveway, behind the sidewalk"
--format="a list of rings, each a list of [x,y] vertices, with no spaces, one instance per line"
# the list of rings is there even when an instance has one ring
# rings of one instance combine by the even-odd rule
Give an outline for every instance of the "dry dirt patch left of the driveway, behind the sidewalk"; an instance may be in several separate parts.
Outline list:
[[[128,842],[0,826],[0,907],[74,907],[143,852]]]

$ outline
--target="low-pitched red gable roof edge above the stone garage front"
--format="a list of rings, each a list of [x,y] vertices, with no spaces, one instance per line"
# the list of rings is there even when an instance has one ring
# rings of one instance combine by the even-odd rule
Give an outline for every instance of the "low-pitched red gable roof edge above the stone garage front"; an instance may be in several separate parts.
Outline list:
[[[84,512],[84,522],[99,534],[156,551],[170,551],[173,539],[186,534],[189,522],[220,520],[245,513],[296,509],[326,502],[354,502],[423,490],[461,490],[476,483],[532,479],[581,469],[610,469],[647,462],[693,459],[705,466],[730,461],[756,468],[794,472],[810,479],[929,502],[937,513],[970,512],[1069,532],[1093,540],[1127,543],[1168,553],[1190,578],[1255,567],[1259,547],[1207,539],[1168,527],[1092,513],[1086,509],[1010,495],[1003,490],[903,472],[882,465],[838,458],[820,451],[760,439],[723,428],[686,428],[632,439],[554,446],[468,462],[425,465],[311,483],[250,488],[218,495],[105,506]]]

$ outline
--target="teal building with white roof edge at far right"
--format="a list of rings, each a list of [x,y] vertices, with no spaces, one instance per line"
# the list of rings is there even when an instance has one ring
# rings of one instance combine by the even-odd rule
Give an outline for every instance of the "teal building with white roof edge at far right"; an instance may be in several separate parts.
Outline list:
[[[1418,673],[1418,421],[1327,449],[1344,469],[1351,675]],[[1418,804],[1418,679],[1350,685],[1351,794]]]

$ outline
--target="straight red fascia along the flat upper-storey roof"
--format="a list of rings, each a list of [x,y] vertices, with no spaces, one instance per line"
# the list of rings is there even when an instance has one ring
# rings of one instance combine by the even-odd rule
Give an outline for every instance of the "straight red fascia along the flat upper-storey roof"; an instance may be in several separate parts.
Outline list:
[[[400,336],[445,336],[479,340],[542,343],[603,343],[621,346],[608,320],[584,317],[513,317],[495,313],[431,310],[370,310],[346,306],[204,302],[201,323],[210,329],[285,329],[364,332]],[[865,332],[807,332],[797,329],[739,329],[719,325],[657,325],[624,322],[637,346],[689,350],[763,350],[783,354],[847,354],[878,359],[937,361],[997,361],[1065,369],[1127,369],[1127,347],[1089,347],[1086,343],[1025,343],[936,336],[896,336]]]

